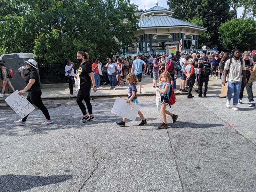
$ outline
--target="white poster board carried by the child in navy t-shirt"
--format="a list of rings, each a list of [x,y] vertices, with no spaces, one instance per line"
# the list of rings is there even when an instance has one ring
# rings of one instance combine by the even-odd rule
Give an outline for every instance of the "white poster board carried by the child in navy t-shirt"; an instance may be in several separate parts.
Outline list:
[[[125,117],[132,121],[135,121],[138,111],[140,109],[139,105],[132,103],[133,108],[131,108],[129,103],[126,103],[124,99],[116,97],[116,101],[113,105],[111,113],[114,113],[118,116]]]

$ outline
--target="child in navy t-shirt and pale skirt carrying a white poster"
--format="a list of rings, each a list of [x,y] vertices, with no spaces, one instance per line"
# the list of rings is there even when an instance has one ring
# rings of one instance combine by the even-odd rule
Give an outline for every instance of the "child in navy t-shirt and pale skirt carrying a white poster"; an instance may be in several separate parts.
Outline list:
[[[129,82],[129,85],[128,85],[128,88],[127,88],[127,91],[128,91],[128,99],[126,100],[126,103],[134,103],[134,104],[137,104],[137,105],[140,105],[139,104],[139,101],[137,99],[137,88],[136,88],[136,85],[137,85],[137,77],[134,75],[134,73],[129,73],[127,76],[126,76],[126,81]],[[139,125],[146,125],[147,124],[147,121],[146,119],[144,118],[143,114],[141,113],[141,111],[139,110],[138,111],[138,114],[141,118],[141,123]],[[123,121],[117,123],[120,127],[124,127],[125,126],[125,122],[126,122],[126,118],[124,117],[123,118]]]

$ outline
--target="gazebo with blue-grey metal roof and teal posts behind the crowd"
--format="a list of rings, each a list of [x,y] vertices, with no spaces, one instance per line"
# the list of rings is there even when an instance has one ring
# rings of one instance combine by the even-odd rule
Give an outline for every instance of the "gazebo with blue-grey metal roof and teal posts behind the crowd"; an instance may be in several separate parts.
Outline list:
[[[206,28],[174,18],[173,11],[158,6],[158,3],[137,14],[140,15],[139,28],[134,35],[139,40],[132,42],[134,47],[126,46],[123,50],[126,57],[138,53],[149,55],[150,52],[168,54],[169,51],[179,50],[180,45],[182,50],[186,47],[198,49],[198,35],[206,31]]]

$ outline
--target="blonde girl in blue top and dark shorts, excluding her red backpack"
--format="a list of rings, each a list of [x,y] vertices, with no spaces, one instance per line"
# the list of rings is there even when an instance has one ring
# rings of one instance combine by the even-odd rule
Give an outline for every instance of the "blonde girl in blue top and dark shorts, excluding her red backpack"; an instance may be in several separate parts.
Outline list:
[[[171,112],[165,110],[166,109],[166,106],[169,105],[168,103],[168,99],[169,99],[169,93],[171,91],[171,84],[170,84],[170,81],[172,80],[172,77],[170,76],[170,73],[167,72],[167,71],[164,71],[160,77],[159,77],[159,80],[160,80],[160,83],[161,81],[164,83],[162,89],[159,89],[159,88],[156,88],[157,91],[160,92],[160,96],[161,96],[161,115],[163,117],[163,124],[161,124],[158,128],[159,129],[165,129],[168,127],[168,124],[167,124],[167,120],[166,120],[166,115],[165,114],[168,114],[170,116],[172,116],[172,121],[173,123],[176,122],[178,116],[177,115],[174,115],[172,114]],[[167,97],[166,97],[167,95]]]

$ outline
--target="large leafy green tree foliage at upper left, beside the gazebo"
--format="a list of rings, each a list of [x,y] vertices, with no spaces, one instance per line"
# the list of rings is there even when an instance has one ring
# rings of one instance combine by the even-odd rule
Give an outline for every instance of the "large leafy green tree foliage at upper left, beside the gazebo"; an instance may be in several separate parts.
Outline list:
[[[132,44],[138,28],[130,0],[2,0],[0,54],[33,52],[40,62],[106,59]],[[119,42],[116,42],[115,39]]]

